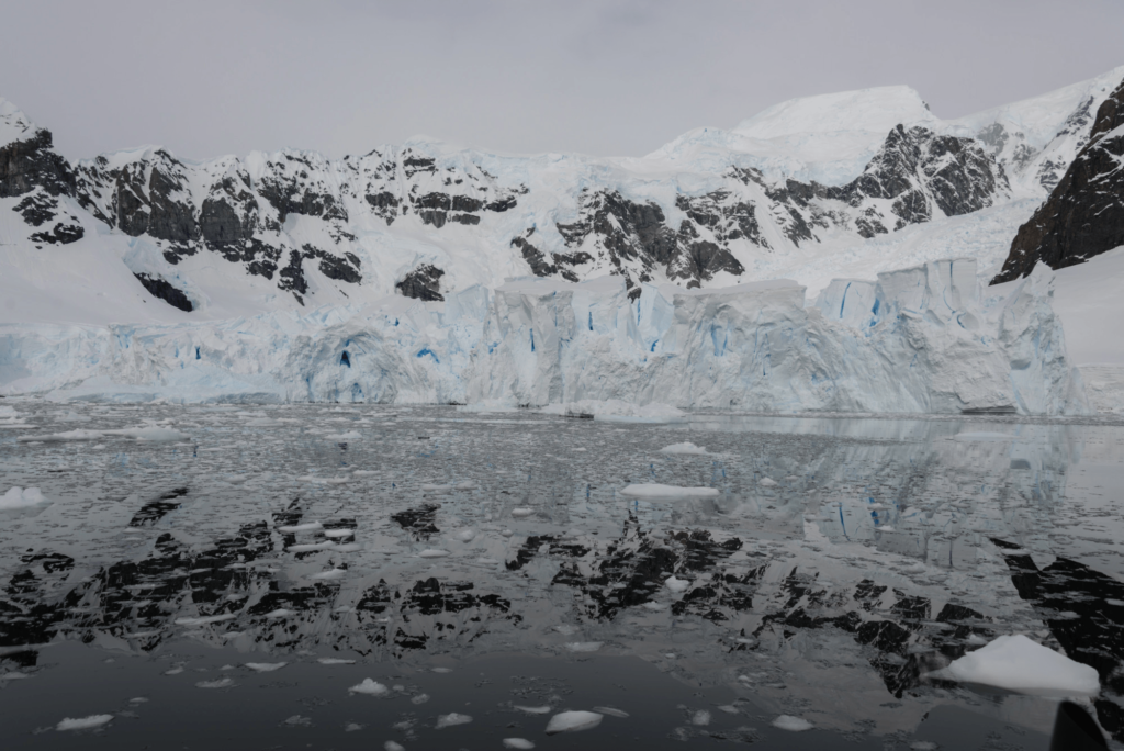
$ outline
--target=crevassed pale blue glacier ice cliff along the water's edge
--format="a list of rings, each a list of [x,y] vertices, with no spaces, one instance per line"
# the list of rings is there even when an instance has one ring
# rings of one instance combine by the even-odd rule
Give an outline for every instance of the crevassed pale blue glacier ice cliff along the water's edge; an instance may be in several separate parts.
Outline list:
[[[717,289],[522,278],[444,301],[179,324],[0,326],[0,393],[126,401],[343,401],[1085,414],[1044,265],[986,297],[973,259]],[[588,411],[584,407],[582,411]],[[596,410],[596,409],[595,409]]]

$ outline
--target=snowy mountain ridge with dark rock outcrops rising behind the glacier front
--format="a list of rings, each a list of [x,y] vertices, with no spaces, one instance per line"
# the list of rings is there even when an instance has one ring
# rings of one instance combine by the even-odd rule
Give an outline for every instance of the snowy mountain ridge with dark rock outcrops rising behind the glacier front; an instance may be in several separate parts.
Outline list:
[[[44,251],[33,265],[47,268],[100,245],[137,293],[191,311],[218,304],[219,317],[230,296],[246,311],[392,293],[439,300],[528,274],[617,274],[633,299],[643,282],[778,275],[815,290],[830,277],[800,272],[840,252],[882,241],[885,264],[870,270],[883,271],[901,265],[903,248],[886,242],[917,237],[903,230],[1013,202],[1028,214],[1019,200],[1053,188],[1121,78],[1124,69],[958,120],[940,120],[906,87],[798,99],[642,159],[416,138],[338,161],[287,150],[194,162],[142,147],[69,164],[49,132],[3,102],[0,211],[15,200],[22,221],[6,217],[0,242]],[[62,246],[71,253],[52,255]],[[981,273],[1001,260],[988,251]]]

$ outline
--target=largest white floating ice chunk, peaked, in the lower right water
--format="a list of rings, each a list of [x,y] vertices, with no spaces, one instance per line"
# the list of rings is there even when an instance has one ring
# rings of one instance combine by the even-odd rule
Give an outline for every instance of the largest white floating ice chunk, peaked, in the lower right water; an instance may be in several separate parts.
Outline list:
[[[999,636],[987,646],[953,660],[934,675],[1023,694],[1096,696],[1100,690],[1100,680],[1094,668],[1070,660],[1022,634]]]

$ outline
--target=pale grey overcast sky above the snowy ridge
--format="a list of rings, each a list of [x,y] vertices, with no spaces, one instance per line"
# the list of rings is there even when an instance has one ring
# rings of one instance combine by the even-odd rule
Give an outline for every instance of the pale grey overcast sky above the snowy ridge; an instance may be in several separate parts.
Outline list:
[[[418,134],[642,155],[792,97],[906,83],[951,118],[1124,64],[1115,0],[0,0],[0,97],[69,157]]]

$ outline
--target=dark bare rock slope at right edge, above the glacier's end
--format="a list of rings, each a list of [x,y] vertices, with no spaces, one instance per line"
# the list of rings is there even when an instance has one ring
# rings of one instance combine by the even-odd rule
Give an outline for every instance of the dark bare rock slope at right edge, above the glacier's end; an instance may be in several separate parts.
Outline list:
[[[1084,263],[1124,245],[1124,82],[1097,110],[1082,148],[1053,192],[1010,244],[998,284],[1025,277],[1039,261],[1051,269]]]

